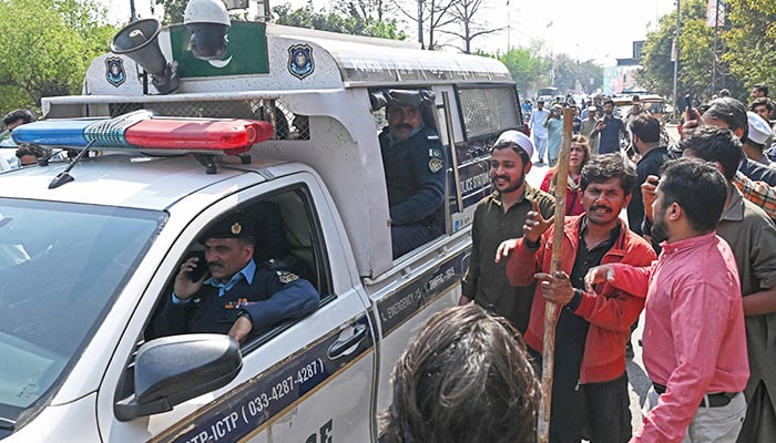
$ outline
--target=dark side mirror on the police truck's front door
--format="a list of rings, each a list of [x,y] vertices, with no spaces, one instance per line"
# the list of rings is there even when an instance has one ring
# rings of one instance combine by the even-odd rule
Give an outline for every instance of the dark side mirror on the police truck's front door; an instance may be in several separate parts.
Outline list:
[[[234,380],[243,368],[239,343],[228,336],[193,333],[143,344],[135,357],[134,395],[116,402],[120,421],[173,406]]]

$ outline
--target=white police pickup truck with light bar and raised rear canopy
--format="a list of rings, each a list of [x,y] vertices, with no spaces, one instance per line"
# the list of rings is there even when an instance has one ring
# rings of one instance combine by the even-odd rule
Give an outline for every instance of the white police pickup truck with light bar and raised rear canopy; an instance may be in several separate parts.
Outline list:
[[[132,23],[83,95],[14,130],[74,158],[0,174],[0,440],[374,442],[394,362],[459,299],[488,148],[522,123],[507,69],[228,24],[202,60],[184,25]],[[432,93],[447,157],[446,230],[397,258],[370,100],[387,89]],[[151,339],[181,264],[236,210],[257,214],[257,260],[308,279],[318,308],[239,346]]]

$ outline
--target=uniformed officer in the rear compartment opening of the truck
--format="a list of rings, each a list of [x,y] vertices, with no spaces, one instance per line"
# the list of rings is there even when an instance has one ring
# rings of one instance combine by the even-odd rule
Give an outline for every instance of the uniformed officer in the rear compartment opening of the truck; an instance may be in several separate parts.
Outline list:
[[[382,95],[388,126],[379,141],[388,186],[391,247],[394,257],[399,257],[445,231],[447,168],[439,135],[430,127],[433,93],[389,90]]]

